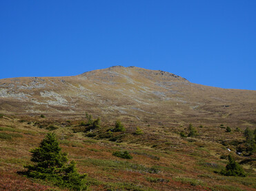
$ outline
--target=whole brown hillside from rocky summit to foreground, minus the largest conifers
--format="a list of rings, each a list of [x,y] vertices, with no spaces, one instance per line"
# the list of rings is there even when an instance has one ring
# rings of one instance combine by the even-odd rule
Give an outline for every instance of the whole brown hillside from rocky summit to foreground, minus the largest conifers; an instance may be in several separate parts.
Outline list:
[[[0,190],[66,190],[19,175],[48,132],[88,175],[89,190],[255,190],[255,129],[256,91],[197,85],[165,71],[117,66],[2,79]],[[221,175],[229,154],[246,177]]]

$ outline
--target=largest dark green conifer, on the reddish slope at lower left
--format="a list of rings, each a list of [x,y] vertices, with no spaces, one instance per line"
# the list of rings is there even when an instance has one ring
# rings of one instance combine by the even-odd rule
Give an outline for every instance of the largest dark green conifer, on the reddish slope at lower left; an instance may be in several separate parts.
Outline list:
[[[67,164],[67,153],[62,153],[55,133],[48,133],[38,148],[30,150],[34,165],[28,168],[26,175],[36,179],[52,181],[57,186],[71,190],[86,190],[86,175],[80,175],[75,168],[75,161]]]

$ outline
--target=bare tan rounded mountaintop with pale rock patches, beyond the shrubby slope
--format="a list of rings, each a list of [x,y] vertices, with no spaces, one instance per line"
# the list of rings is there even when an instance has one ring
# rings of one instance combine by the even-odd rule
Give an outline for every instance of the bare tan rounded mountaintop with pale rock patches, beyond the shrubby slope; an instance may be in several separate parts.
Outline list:
[[[256,91],[206,87],[165,71],[117,66],[79,76],[2,79],[0,112],[255,122]]]

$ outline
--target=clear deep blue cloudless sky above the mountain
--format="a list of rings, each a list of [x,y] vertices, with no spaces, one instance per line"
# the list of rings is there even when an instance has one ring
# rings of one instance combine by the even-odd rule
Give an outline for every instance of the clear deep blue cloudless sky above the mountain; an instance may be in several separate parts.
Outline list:
[[[256,1],[0,1],[0,78],[113,65],[256,90]]]

